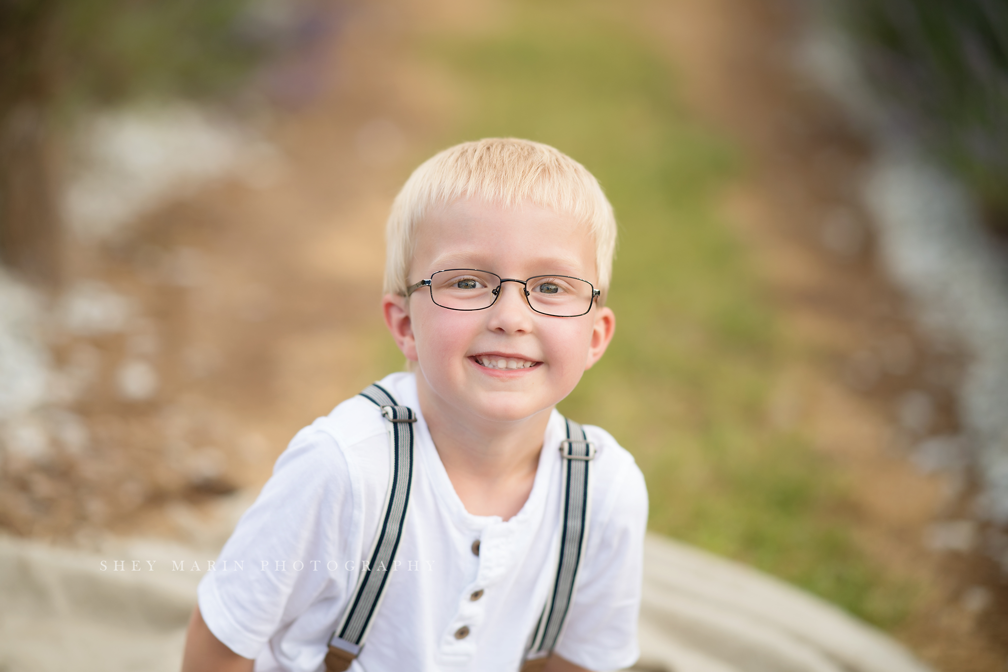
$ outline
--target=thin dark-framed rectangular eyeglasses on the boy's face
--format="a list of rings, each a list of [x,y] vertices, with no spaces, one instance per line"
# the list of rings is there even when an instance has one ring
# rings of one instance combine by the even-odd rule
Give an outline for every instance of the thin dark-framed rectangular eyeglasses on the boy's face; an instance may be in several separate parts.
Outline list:
[[[543,315],[578,317],[592,309],[601,294],[591,282],[570,275],[536,275],[527,280],[502,278],[490,271],[475,268],[449,268],[406,288],[409,296],[420,287],[430,288],[430,300],[451,310],[483,310],[500,296],[505,282],[524,286],[528,307]]]

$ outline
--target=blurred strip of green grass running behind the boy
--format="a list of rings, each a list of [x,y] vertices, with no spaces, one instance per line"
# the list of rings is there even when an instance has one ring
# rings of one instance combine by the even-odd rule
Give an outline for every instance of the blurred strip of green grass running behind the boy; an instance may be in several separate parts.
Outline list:
[[[830,464],[766,421],[788,346],[717,214],[744,157],[690,117],[669,63],[613,10],[509,7],[496,32],[439,34],[422,52],[465,91],[461,123],[442,146],[500,135],[546,142],[585,163],[616,209],[617,335],[561,410],[633,452],[652,530],[897,624],[909,592],[851,541]]]

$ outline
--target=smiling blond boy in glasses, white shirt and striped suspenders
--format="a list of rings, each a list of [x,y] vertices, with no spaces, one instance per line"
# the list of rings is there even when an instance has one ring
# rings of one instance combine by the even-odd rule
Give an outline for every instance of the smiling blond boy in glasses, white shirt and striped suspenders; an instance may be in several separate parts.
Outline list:
[[[552,147],[485,139],[417,168],[387,236],[412,373],[294,436],[200,584],[183,671],[630,666],[644,480],[554,409],[613,337],[609,201]]]

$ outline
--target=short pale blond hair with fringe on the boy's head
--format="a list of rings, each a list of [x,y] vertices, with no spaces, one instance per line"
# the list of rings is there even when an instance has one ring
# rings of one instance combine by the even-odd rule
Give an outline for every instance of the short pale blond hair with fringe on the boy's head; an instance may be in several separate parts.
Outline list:
[[[467,197],[505,208],[527,200],[585,223],[595,239],[598,289],[605,297],[616,251],[616,218],[599,180],[549,145],[517,138],[464,142],[413,171],[392,204],[385,230],[386,293],[406,293],[419,222],[434,208]]]

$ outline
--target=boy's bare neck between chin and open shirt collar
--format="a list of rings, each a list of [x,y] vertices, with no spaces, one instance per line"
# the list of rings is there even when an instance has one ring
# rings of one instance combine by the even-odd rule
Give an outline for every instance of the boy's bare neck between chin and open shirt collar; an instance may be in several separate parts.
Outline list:
[[[514,516],[535,481],[552,408],[512,421],[480,418],[451,407],[416,374],[423,419],[459,499],[478,516]]]

